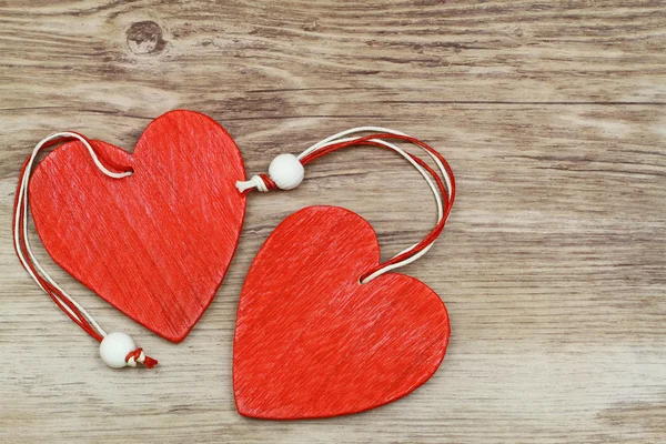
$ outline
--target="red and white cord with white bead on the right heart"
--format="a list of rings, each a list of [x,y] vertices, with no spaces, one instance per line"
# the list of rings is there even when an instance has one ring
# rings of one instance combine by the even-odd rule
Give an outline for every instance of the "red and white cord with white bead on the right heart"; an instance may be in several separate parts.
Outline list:
[[[359,133],[367,133],[375,132],[370,135],[364,137],[350,137],[352,134]],[[428,157],[435,162],[440,174],[433,170],[425,161],[423,161],[417,155],[411,154],[398,148],[397,145],[387,142],[387,140],[401,140],[404,142],[412,143],[417,148],[424,150]],[[422,142],[421,140],[407,135],[403,132],[380,128],[380,127],[361,127],[354,128],[351,130],[342,131],[336,134],[333,134],[303,151],[297,157],[292,157],[293,161],[289,161],[289,158],[284,158],[280,161],[282,157],[290,154],[281,154],[278,157],[269,169],[270,174],[259,174],[252,176],[249,181],[236,182],[236,188],[241,192],[249,192],[253,189],[258,191],[268,192],[271,190],[275,190],[278,188],[281,189],[292,189],[295,188],[300,180],[293,181],[290,179],[301,178],[303,176],[303,167],[307,163],[325,155],[330,152],[337,151],[349,147],[360,147],[360,145],[372,145],[379,147],[383,149],[392,150],[403,158],[405,158],[412,165],[423,175],[426,180],[428,186],[433,191],[435,196],[435,201],[437,204],[437,223],[435,228],[418,243],[401,251],[396,255],[394,255],[391,260],[379,264],[377,266],[369,270],[364,273],[360,281],[361,283],[367,283],[373,279],[397,268],[407,265],[418,258],[423,256],[433,245],[434,241],[444,230],[444,225],[448,215],[451,214],[451,210],[453,208],[453,202],[455,200],[455,179],[453,175],[453,171],[451,167],[446,162],[446,160],[433,148]],[[280,161],[280,162],[278,162]],[[432,180],[428,178],[431,175],[436,183],[433,184]],[[444,178],[444,181],[442,181]],[[289,183],[289,186],[281,186],[281,183]]]

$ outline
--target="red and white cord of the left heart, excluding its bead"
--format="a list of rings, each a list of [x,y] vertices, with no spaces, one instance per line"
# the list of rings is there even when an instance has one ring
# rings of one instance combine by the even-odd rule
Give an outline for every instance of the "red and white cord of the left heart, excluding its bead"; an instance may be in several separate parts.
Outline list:
[[[32,249],[30,248],[30,241],[28,235],[28,216],[29,216],[29,183],[34,160],[39,152],[49,147],[60,144],[63,142],[78,140],[88,149],[92,161],[95,167],[105,175],[113,179],[121,179],[132,175],[132,171],[113,172],[102,162],[98,153],[92,148],[90,141],[84,137],[75,132],[59,132],[51,134],[46,139],[41,140],[32,150],[32,153],[28,157],[21,168],[19,175],[19,184],[14,198],[13,208],[13,244],[17,255],[21,261],[21,264],[28,271],[28,274],[37,282],[40,289],[42,289],[74,323],[77,323],[85,333],[94,337],[98,342],[102,342],[107,337],[107,332],[95,322],[95,320],[88,313],[77,301],[72,299],[64,290],[62,290],[56,281],[46,272],[41,266],[37,258],[34,256]],[[122,170],[121,165],[104,159],[104,162],[114,169]],[[135,366],[137,363],[143,363],[148,367],[153,367],[158,362],[149,356],[145,356],[142,349],[135,349],[128,351],[125,357],[127,365]]]

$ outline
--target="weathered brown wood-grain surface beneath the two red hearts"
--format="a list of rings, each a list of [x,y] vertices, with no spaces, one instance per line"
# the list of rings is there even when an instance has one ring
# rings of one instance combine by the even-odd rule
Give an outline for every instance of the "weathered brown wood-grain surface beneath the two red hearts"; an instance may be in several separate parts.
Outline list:
[[[384,259],[433,223],[418,174],[376,149],[253,195],[226,280],[179,345],[47,261],[103,326],[160,360],[104,366],[14,256],[19,167],[58,130],[131,148],[174,108],[218,120],[251,173],[360,124],[442,150],[458,198],[406,269],[451,315],[433,379],[334,420],[234,408],[241,284],[282,219],[349,208]],[[665,111],[664,1],[0,1],[0,442],[664,442]]]

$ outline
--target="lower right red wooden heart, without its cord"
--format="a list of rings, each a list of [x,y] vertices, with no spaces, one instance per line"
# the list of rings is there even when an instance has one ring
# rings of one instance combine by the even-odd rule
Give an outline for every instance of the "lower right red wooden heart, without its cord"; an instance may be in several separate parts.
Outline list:
[[[341,208],[310,206],[275,229],[239,304],[233,389],[242,415],[356,413],[433,375],[448,343],[446,309],[414,278],[361,284],[379,261],[372,226]]]

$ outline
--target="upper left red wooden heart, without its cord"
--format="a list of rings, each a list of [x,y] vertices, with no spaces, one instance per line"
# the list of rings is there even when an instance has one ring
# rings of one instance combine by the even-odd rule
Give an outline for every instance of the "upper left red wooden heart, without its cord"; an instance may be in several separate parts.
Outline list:
[[[151,122],[132,154],[93,141],[101,158],[133,168],[105,176],[80,142],[37,168],[30,205],[53,260],[118,310],[182,341],[236,248],[245,196],[241,154],[211,118],[172,111]]]

